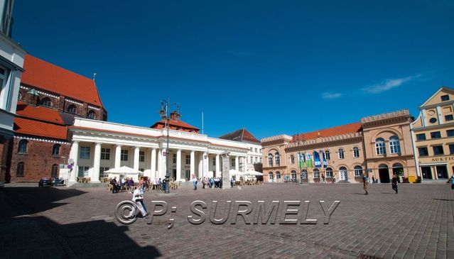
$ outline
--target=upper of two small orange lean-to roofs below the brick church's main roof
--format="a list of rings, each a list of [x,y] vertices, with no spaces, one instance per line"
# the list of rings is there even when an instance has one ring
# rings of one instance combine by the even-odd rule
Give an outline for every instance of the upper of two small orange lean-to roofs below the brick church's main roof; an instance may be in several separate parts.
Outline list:
[[[65,125],[62,118],[60,117],[60,113],[57,110],[40,106],[30,106],[23,101],[17,102],[16,114],[18,114],[18,116],[23,116],[31,119],[38,119],[40,121],[49,121],[52,123]]]

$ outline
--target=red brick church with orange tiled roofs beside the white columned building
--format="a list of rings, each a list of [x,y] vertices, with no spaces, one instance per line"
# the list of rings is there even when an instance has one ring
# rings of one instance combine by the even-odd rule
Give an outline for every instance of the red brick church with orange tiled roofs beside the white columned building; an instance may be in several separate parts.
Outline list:
[[[7,155],[7,182],[57,177],[70,153],[74,117],[107,120],[93,79],[26,55]],[[1,177],[1,176],[0,176]]]

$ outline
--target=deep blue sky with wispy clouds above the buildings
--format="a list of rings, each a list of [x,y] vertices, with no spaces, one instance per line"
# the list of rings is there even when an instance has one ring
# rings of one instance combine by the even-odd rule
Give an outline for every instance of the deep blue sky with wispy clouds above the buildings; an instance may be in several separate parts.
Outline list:
[[[295,134],[418,106],[454,87],[453,1],[16,1],[13,38],[92,77],[109,121],[161,99],[217,137]]]

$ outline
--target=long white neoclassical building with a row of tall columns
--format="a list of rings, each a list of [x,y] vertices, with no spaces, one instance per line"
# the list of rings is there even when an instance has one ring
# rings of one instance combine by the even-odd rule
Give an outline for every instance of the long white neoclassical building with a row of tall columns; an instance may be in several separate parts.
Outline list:
[[[230,168],[237,171],[240,167],[242,171],[247,168],[249,148],[246,143],[210,138],[198,133],[198,128],[190,132],[184,128],[189,125],[182,121],[171,120],[170,125],[167,131],[162,125],[146,128],[75,118],[68,134],[72,145],[68,185],[77,177],[90,177],[92,182],[99,182],[104,171],[121,166],[140,170],[151,179],[163,179],[167,166],[170,177],[177,181],[188,180],[192,175],[217,177],[221,175],[222,153],[229,153],[233,159]]]

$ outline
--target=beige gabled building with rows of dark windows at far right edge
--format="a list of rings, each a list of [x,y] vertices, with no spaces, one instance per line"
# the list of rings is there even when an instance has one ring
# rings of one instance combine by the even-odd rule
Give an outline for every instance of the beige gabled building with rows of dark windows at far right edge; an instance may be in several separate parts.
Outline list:
[[[454,89],[441,87],[411,123],[418,176],[447,180],[454,170]]]

